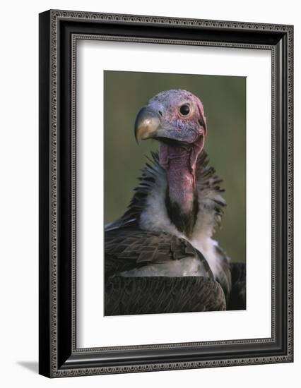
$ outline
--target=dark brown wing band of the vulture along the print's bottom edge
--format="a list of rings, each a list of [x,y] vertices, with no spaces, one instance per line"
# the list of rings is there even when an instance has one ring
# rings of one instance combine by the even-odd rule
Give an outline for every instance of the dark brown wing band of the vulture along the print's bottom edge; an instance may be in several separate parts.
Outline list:
[[[106,282],[105,294],[105,315],[191,313],[226,308],[223,289],[208,277],[114,277]]]

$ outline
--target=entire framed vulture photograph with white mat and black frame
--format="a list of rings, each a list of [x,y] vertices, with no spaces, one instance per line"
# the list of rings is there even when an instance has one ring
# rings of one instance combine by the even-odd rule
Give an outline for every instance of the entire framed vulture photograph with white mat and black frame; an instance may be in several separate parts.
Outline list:
[[[293,26],[40,14],[40,374],[293,362]]]

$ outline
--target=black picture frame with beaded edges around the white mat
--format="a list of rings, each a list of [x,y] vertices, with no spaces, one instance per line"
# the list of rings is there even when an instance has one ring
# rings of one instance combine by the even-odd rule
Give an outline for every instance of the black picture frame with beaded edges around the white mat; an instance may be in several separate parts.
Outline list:
[[[76,40],[271,50],[271,338],[76,348]],[[50,10],[40,13],[40,374],[293,362],[293,26]]]

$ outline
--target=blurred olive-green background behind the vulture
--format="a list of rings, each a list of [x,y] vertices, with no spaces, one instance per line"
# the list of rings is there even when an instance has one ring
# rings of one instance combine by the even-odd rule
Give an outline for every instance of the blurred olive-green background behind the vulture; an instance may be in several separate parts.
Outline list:
[[[163,90],[189,90],[203,102],[208,127],[205,149],[225,188],[227,207],[214,238],[232,261],[245,261],[246,78],[105,71],[104,85],[105,223],[124,213],[146,155],[158,149],[155,140],[136,144],[138,110]]]

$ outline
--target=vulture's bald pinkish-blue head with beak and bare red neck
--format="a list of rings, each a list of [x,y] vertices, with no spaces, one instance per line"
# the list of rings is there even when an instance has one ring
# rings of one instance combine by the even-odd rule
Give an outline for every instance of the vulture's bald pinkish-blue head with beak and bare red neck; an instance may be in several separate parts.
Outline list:
[[[189,236],[199,210],[195,167],[207,129],[201,100],[187,90],[167,90],[148,101],[136,116],[135,136],[160,142],[159,161],[166,171],[167,213]]]

